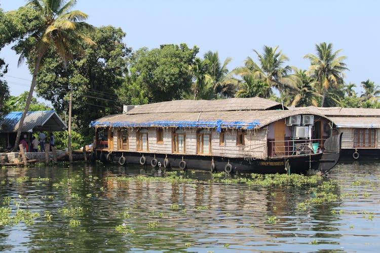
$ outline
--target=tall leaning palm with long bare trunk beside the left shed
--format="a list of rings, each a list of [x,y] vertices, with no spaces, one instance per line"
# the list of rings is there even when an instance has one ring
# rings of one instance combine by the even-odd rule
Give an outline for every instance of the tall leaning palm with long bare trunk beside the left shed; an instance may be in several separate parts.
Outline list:
[[[87,19],[87,14],[80,11],[70,11],[76,3],[77,1],[75,0],[69,0],[67,3],[62,0],[28,0],[26,4],[26,7],[33,9],[41,16],[44,24],[34,30],[25,40],[20,40],[18,45],[16,45],[16,48],[19,48],[19,52],[21,52],[19,64],[23,62],[25,57],[33,59],[34,70],[29,95],[20,119],[14,149],[17,148],[20,140],[21,129],[29,109],[37,74],[39,73],[40,65],[43,64],[45,54],[54,48],[57,54],[62,57],[64,64],[67,64],[72,59],[71,50],[81,51],[80,41],[84,41],[89,45],[95,45],[83,33],[86,29],[92,29],[91,25],[83,22]],[[34,43],[30,45],[25,41],[34,41]]]

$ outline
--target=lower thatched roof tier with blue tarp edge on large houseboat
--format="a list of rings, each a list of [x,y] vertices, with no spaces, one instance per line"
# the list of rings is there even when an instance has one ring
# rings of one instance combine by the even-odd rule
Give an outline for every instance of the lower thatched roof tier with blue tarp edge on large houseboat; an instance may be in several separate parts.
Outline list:
[[[133,109],[134,110],[134,109]],[[91,122],[94,127],[179,127],[220,129],[259,129],[274,121],[291,115],[320,113],[306,110],[245,110],[207,112],[154,112],[141,114],[117,114],[105,116]]]

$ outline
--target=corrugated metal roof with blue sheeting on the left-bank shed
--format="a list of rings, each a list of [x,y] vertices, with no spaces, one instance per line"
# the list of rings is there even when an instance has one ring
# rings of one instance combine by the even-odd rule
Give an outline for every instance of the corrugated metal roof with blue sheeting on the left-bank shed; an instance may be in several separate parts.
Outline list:
[[[22,112],[11,112],[1,121],[1,133],[15,133],[19,127]],[[55,111],[29,111],[26,113],[22,132],[63,131],[66,124]]]

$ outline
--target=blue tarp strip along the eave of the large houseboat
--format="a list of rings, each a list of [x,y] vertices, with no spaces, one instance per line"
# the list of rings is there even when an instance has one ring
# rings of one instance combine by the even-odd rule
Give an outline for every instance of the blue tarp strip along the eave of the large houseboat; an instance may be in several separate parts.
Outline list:
[[[149,127],[149,126],[162,126],[162,127],[177,127],[177,128],[216,128],[217,132],[221,132],[221,129],[228,128],[245,128],[245,129],[254,129],[256,126],[260,125],[259,120],[254,120],[252,122],[244,122],[244,121],[233,121],[227,122],[222,120],[216,121],[147,121],[142,123],[135,122],[99,122],[99,121],[91,121],[90,126],[111,126],[115,127]]]

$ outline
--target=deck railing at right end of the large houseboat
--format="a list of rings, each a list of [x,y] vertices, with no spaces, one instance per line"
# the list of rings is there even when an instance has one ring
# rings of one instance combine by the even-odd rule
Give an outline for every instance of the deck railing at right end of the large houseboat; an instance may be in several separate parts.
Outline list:
[[[268,141],[268,157],[310,155],[322,152],[325,139]]]

